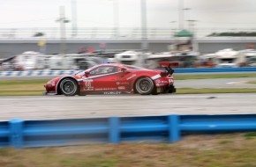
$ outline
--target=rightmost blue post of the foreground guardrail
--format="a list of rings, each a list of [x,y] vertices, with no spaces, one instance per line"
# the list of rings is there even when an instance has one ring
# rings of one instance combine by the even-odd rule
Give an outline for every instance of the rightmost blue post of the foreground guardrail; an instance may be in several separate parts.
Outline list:
[[[169,115],[169,142],[177,142],[180,140],[179,116]]]

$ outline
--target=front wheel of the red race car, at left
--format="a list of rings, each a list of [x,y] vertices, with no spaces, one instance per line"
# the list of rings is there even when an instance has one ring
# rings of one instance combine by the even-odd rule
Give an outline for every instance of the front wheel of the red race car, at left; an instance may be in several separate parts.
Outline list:
[[[75,96],[78,93],[78,84],[72,78],[64,78],[60,83],[60,90],[64,96]]]

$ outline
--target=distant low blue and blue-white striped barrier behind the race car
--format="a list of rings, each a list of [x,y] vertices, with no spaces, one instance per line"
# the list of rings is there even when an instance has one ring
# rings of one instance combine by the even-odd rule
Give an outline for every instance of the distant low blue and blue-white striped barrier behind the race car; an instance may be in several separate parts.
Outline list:
[[[165,70],[165,69],[160,69]],[[195,68],[174,69],[175,73],[200,73],[200,72],[256,72],[256,67],[244,68]],[[62,76],[72,75],[79,70],[27,70],[27,71],[0,71],[0,76]]]

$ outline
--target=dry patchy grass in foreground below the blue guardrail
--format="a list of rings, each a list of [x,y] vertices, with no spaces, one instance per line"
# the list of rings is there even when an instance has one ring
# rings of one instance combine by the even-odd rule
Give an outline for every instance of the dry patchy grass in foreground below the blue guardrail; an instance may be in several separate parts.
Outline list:
[[[0,166],[256,166],[256,137],[248,140],[246,135],[190,135],[174,143],[122,142],[73,147],[2,148]]]

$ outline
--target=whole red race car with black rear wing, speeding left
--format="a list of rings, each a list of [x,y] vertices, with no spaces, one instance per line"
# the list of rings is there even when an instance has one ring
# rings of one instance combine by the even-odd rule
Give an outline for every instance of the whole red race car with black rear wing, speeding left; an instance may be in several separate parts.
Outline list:
[[[124,64],[100,64],[72,76],[59,76],[44,85],[45,94],[159,94],[176,92],[174,70],[152,70]]]

